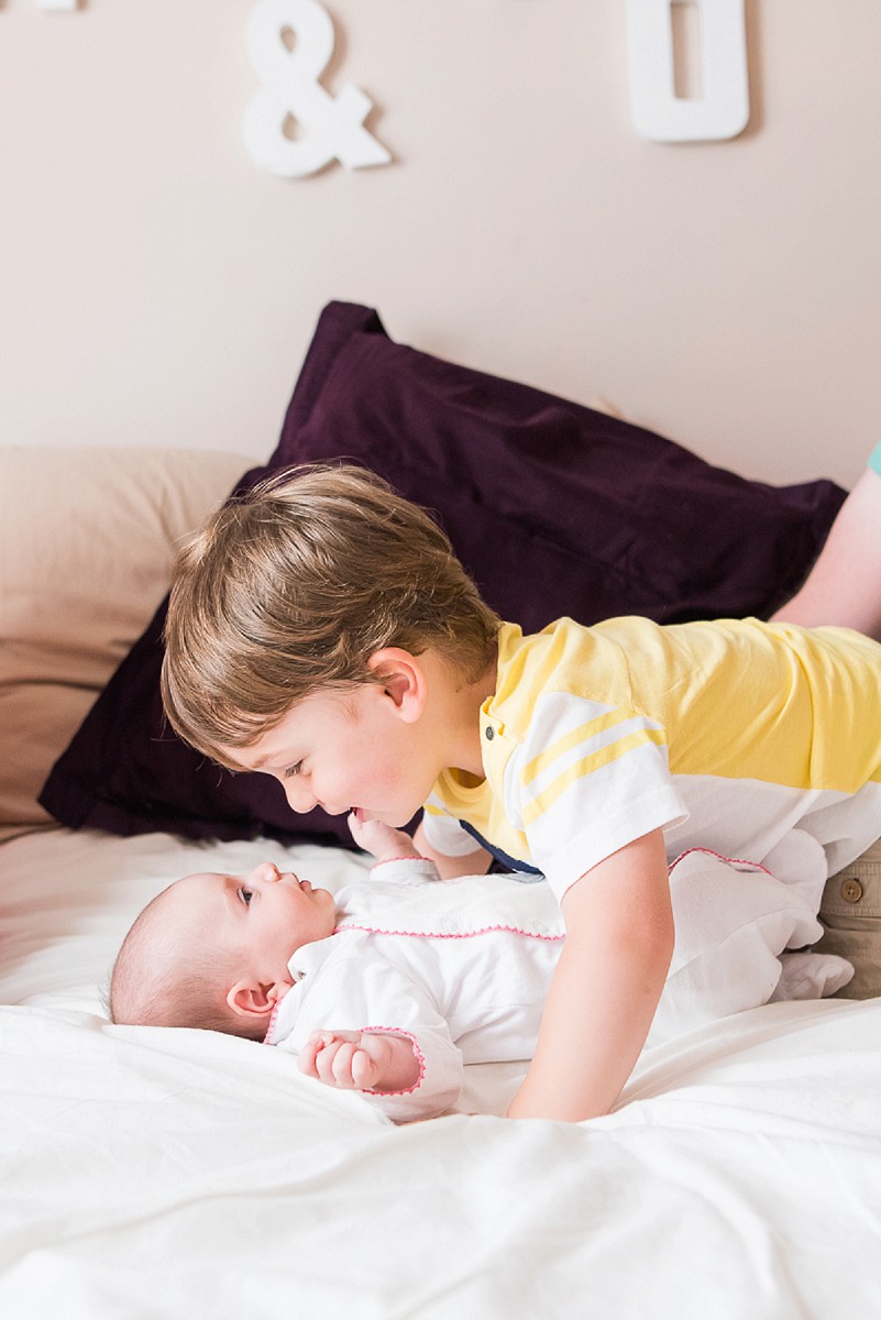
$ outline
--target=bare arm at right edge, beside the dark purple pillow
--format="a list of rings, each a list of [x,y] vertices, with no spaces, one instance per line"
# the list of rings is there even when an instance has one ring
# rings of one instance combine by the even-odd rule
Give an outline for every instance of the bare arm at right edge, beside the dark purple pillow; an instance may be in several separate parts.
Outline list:
[[[773,622],[837,624],[881,640],[881,477],[870,467],[841,506],[807,581]]]

